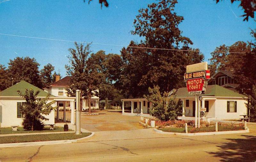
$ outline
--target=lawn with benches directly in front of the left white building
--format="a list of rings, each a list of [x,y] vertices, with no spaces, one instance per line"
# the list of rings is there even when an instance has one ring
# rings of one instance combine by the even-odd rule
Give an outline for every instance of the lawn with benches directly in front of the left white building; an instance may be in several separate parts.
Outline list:
[[[18,127],[17,131],[12,131],[12,127],[0,128],[0,134],[15,134],[15,133],[38,133],[38,132],[63,132],[63,127],[54,127],[54,130],[50,130],[50,127],[44,127],[44,130],[24,130],[23,127]],[[72,130],[68,130],[72,131]]]

